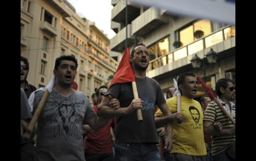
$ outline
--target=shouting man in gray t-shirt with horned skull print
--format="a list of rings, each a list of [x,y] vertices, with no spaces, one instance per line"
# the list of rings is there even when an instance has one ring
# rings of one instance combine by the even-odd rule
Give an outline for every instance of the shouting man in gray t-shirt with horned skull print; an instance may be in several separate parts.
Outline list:
[[[38,119],[36,161],[84,161],[82,124],[98,130],[109,121],[98,118],[86,95],[72,88],[77,66],[71,55],[56,59],[55,85]],[[43,95],[35,92],[33,114]]]

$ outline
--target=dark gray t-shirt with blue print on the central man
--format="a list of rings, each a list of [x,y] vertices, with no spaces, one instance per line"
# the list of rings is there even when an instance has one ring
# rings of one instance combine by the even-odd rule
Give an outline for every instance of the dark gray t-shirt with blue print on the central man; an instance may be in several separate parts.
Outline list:
[[[143,122],[138,122],[137,112],[117,118],[116,142],[151,142],[158,143],[155,127],[156,106],[165,103],[159,83],[151,78],[136,78],[138,96],[144,101],[142,107]],[[117,83],[110,87],[105,96],[115,96],[121,107],[128,107],[134,99],[132,83]]]

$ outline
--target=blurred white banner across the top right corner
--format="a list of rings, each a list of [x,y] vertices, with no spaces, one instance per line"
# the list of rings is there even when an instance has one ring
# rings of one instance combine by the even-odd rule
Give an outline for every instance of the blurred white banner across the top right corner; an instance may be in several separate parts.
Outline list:
[[[235,0],[131,0],[166,9],[171,14],[209,19],[235,25]]]

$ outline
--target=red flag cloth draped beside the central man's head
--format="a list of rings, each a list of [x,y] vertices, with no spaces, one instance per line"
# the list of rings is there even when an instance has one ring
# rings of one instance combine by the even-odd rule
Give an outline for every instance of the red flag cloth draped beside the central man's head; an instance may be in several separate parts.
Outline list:
[[[115,83],[135,82],[132,64],[130,63],[130,55],[130,49],[126,48],[108,88]]]

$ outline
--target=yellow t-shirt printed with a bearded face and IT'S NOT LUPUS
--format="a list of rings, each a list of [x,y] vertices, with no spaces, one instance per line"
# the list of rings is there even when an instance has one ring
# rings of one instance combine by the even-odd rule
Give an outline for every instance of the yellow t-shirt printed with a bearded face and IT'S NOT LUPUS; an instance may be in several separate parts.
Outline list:
[[[172,114],[177,113],[177,96],[166,100]],[[184,120],[181,124],[173,121],[173,150],[171,153],[188,155],[206,155],[203,137],[203,112],[199,102],[181,96],[181,112]],[[161,110],[156,113],[163,117]]]

